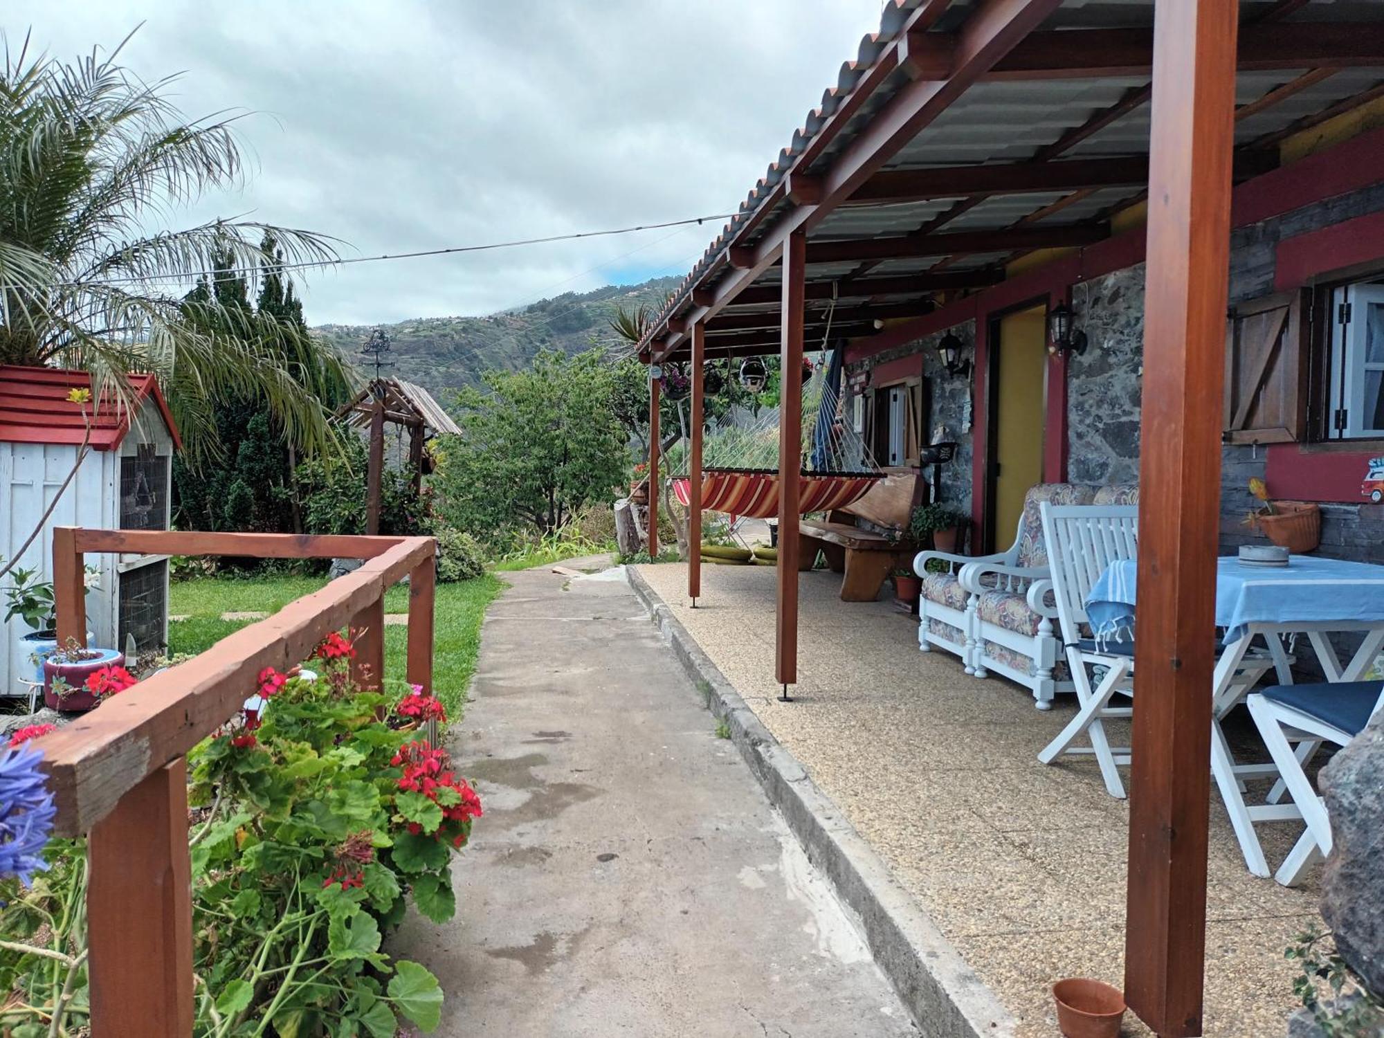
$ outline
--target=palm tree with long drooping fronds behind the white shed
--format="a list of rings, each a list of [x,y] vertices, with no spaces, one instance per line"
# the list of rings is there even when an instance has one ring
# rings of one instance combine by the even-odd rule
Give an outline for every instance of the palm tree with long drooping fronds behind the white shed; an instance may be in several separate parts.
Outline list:
[[[97,399],[127,407],[126,372],[159,376],[185,451],[217,453],[215,408],[259,400],[291,444],[332,443],[317,390],[346,363],[292,321],[187,289],[205,271],[252,284],[281,264],[335,257],[334,241],[239,220],[152,230],[174,206],[242,183],[235,123],[188,120],[109,57],[17,55],[0,69],[0,364],[91,372]],[[267,248],[266,248],[267,242]]]

